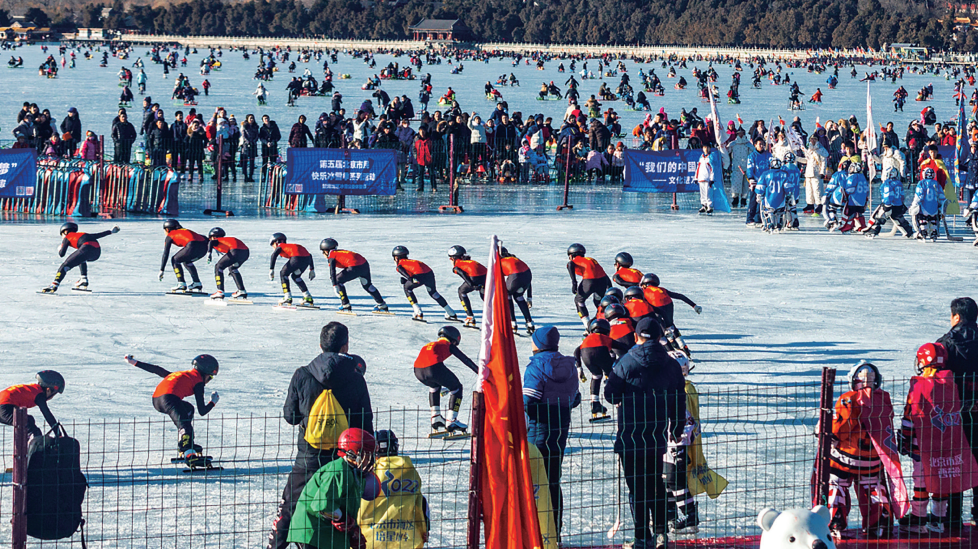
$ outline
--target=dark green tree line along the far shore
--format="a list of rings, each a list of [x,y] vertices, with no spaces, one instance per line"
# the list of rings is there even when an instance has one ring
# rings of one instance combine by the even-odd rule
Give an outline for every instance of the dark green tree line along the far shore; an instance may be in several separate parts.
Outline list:
[[[978,51],[955,14],[901,0],[201,0],[175,4],[87,4],[49,8],[57,27],[126,27],[155,34],[409,39],[423,18],[461,18],[487,42],[609,45],[874,48],[910,42],[933,50]],[[44,13],[40,8],[31,12]],[[54,13],[52,13],[54,12]],[[0,11],[0,23],[5,14]],[[38,24],[40,22],[38,21]]]

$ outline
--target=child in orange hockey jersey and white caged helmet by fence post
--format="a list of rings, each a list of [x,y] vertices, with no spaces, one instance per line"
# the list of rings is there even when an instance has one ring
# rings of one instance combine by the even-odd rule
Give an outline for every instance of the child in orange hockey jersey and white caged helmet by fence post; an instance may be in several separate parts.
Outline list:
[[[875,365],[860,362],[849,371],[850,390],[835,403],[828,503],[832,513],[829,529],[836,536],[841,536],[849,524],[849,487],[853,484],[863,534],[871,539],[886,537],[895,520],[891,496],[883,481],[883,459],[885,456],[899,471],[900,456],[884,445],[887,430],[893,431],[893,405],[890,394],[880,388],[882,382]],[[891,476],[892,469],[886,467]],[[902,474],[893,480],[902,486]]]

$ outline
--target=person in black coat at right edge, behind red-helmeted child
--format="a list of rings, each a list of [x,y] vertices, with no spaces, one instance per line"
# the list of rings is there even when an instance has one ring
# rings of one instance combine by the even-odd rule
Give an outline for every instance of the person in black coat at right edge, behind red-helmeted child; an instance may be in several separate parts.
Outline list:
[[[970,297],[951,301],[951,330],[937,340],[947,349],[947,369],[954,373],[954,384],[961,397],[961,427],[971,444],[971,453],[978,457],[978,304]],[[964,494],[948,498],[947,517],[951,527],[961,527],[961,507]],[[978,512],[974,499],[972,516]]]

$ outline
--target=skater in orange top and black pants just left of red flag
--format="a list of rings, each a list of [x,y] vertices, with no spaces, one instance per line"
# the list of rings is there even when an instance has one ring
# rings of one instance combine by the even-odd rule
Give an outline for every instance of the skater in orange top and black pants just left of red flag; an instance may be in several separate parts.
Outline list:
[[[479,368],[465,355],[458,344],[462,334],[454,326],[443,326],[438,330],[438,339],[421,348],[418,358],[414,361],[414,377],[428,387],[428,405],[431,406],[431,437],[464,435],[468,426],[458,420],[458,411],[462,407],[462,383],[451,370],[445,366],[449,356],[462,361],[473,373],[479,373]],[[444,387],[450,396],[448,398],[449,420],[445,425],[445,417],[441,414],[441,393]]]

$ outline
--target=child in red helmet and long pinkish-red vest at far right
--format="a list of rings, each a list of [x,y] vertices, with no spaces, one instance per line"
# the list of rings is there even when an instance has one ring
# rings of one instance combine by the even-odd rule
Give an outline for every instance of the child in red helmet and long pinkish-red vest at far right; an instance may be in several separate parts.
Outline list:
[[[917,375],[910,378],[903,426],[897,434],[900,453],[913,460],[910,513],[900,519],[900,525],[911,532],[943,532],[950,519],[950,495],[978,484],[978,464],[962,429],[961,402],[947,359],[947,349],[940,343],[925,343],[917,350]],[[939,463],[960,465],[935,468]],[[931,514],[928,498],[934,502]]]

